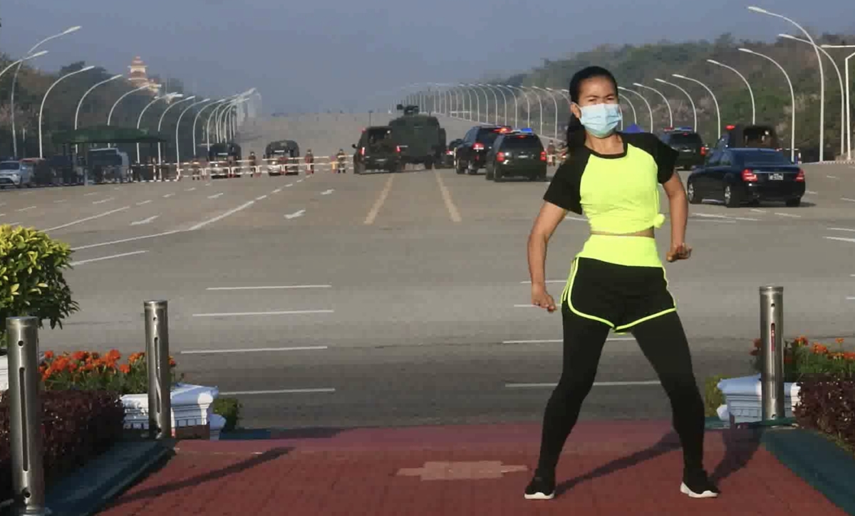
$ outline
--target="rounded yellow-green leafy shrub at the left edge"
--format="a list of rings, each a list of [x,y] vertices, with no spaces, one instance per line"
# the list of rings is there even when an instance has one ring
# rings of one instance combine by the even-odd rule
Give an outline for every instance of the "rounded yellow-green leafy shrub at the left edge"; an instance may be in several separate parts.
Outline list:
[[[6,318],[31,315],[38,325],[62,328],[62,320],[80,309],[62,270],[71,267],[72,250],[44,232],[0,226],[0,348],[6,347]]]

